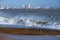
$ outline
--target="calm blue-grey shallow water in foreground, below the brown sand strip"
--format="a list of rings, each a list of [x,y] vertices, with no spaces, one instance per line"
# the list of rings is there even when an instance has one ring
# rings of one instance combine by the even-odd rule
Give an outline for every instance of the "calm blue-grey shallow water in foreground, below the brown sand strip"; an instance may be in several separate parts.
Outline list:
[[[5,40],[60,40],[60,36],[32,36],[32,35],[10,35],[3,34]]]

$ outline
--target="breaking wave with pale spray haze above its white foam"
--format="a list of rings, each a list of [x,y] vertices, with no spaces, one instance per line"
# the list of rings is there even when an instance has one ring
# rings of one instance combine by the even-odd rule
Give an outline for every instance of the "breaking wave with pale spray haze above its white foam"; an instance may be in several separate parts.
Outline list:
[[[37,27],[37,28],[52,28],[52,29],[60,29],[60,23],[58,22],[48,22],[47,24],[39,24],[36,25],[37,20],[46,21],[49,17],[47,16],[37,16],[37,15],[16,15],[11,18],[7,18],[4,16],[0,16],[0,26],[3,27],[18,27],[24,25],[24,27]],[[49,19],[50,20],[50,19]],[[2,27],[1,26],[1,27]]]

